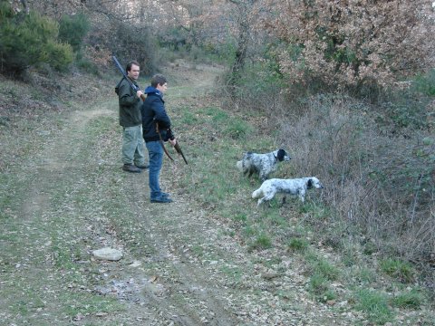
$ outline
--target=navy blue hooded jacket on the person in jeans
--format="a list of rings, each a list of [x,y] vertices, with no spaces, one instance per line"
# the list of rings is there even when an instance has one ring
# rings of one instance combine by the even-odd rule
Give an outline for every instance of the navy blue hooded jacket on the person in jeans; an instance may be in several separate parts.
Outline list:
[[[160,140],[156,130],[156,123],[159,123],[160,135],[164,141],[174,139],[161,92],[154,87],[148,86],[145,93],[147,98],[143,101],[140,109],[142,112],[143,139],[147,142]]]

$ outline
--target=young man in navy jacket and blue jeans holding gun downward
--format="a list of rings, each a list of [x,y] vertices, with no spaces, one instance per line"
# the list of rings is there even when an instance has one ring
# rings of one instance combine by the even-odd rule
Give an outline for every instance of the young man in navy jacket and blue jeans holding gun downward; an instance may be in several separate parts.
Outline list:
[[[147,99],[143,102],[142,111],[142,128],[143,139],[148,149],[150,157],[150,201],[151,203],[170,203],[172,199],[168,193],[160,189],[160,169],[163,161],[163,143],[168,141],[175,146],[177,140],[170,130],[169,116],[165,110],[165,101],[163,93],[168,89],[166,78],[160,74],[151,78],[151,85],[147,87],[145,93]],[[160,135],[158,129],[159,125]]]

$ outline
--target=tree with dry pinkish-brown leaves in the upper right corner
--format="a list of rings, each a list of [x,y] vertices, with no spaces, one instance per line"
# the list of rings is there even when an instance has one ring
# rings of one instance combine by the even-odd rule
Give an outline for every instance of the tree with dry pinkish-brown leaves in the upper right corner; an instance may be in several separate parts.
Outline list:
[[[334,87],[391,85],[433,65],[431,0],[270,1],[265,20],[282,41],[281,71],[290,83]],[[360,89],[361,90],[361,89]]]

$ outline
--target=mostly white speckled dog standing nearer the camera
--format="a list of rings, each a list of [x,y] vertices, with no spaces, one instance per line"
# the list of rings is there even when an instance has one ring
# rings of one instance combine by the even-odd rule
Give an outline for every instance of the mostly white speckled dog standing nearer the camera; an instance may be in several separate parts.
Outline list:
[[[301,177],[294,179],[273,178],[263,182],[261,187],[252,193],[253,198],[259,198],[257,206],[271,200],[275,194],[290,194],[298,196],[304,203],[305,192],[310,188],[322,189],[324,186],[317,177]]]

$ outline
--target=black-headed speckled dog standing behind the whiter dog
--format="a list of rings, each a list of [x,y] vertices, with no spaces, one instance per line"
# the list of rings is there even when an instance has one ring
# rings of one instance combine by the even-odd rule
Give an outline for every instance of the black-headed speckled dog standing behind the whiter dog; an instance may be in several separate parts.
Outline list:
[[[290,159],[284,149],[276,149],[265,154],[247,152],[241,160],[237,161],[237,168],[244,175],[248,173],[248,177],[256,173],[262,181],[265,181],[269,174],[275,171],[279,162]]]

